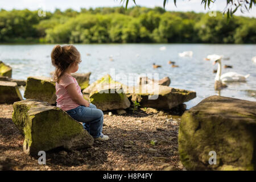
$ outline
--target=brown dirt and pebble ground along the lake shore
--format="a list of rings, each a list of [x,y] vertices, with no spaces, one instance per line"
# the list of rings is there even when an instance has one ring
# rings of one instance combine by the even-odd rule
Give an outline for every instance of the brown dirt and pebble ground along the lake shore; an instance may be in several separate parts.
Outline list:
[[[177,134],[180,117],[163,111],[147,114],[139,109],[126,114],[104,114],[105,142],[92,148],[46,152],[46,165],[39,156],[23,152],[24,137],[11,116],[13,105],[0,105],[0,170],[182,170]]]

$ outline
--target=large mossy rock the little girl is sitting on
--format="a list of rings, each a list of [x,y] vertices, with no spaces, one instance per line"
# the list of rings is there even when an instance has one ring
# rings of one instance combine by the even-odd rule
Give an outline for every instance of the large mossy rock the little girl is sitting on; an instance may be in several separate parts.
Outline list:
[[[59,107],[30,99],[15,102],[13,107],[13,122],[25,135],[26,154],[37,155],[56,147],[77,150],[93,145],[93,137]]]

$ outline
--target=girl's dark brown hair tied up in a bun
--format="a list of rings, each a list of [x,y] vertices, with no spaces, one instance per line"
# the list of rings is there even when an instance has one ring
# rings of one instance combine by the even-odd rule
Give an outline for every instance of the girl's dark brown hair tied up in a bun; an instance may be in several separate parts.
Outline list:
[[[80,58],[81,55],[75,46],[54,46],[51,53],[52,65],[55,67],[53,80],[59,83],[60,77],[63,76],[69,65],[80,63]]]

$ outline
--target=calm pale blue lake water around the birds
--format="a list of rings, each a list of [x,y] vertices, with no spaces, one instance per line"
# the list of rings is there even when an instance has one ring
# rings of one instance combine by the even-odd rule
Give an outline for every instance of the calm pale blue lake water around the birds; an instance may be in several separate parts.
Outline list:
[[[233,69],[222,69],[222,73],[237,72],[250,74],[247,82],[229,84],[221,90],[221,96],[256,101],[245,90],[256,90],[256,64],[251,61],[256,56],[256,45],[220,45],[220,44],[94,44],[75,45],[79,49],[82,63],[78,72],[92,72],[90,83],[109,73],[115,80],[127,85],[137,85],[132,78],[127,81],[118,74],[159,73],[159,78],[171,78],[170,86],[194,90],[197,97],[187,102],[188,108],[195,106],[206,97],[218,94],[214,91],[213,69],[210,61],[204,57],[216,53],[229,57],[222,65],[232,65]],[[166,46],[166,50],[159,48]],[[0,45],[0,60],[13,68],[13,78],[26,79],[28,76],[49,76],[54,70],[49,56],[53,45]],[[178,53],[193,51],[193,57],[179,57]],[[90,54],[88,56],[87,54]],[[110,58],[113,61],[110,61]],[[175,61],[179,68],[171,68],[168,61]],[[152,63],[162,65],[153,69]],[[114,72],[110,72],[110,69]],[[136,79],[135,79],[136,80]],[[23,92],[22,92],[23,93]]]

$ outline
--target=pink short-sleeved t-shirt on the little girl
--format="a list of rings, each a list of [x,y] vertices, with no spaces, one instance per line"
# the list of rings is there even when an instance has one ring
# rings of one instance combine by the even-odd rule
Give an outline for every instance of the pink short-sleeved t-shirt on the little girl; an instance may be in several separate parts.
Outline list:
[[[55,89],[56,89],[56,96],[57,96],[57,107],[60,107],[62,110],[70,110],[74,109],[78,106],[76,102],[72,100],[72,98],[68,94],[68,90],[66,87],[69,84],[75,83],[77,92],[82,96],[81,87],[76,81],[76,78],[72,77],[71,75],[68,75],[68,73],[64,73],[63,76],[61,76],[59,84],[55,82]]]

